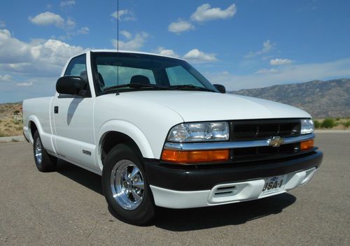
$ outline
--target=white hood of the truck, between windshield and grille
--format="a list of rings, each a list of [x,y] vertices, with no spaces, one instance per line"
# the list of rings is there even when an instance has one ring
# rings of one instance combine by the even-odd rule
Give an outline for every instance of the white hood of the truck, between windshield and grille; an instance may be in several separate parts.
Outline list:
[[[183,118],[184,122],[311,117],[304,110],[293,106],[235,94],[199,91],[142,91],[124,92],[118,96],[123,97],[125,101],[132,101],[132,104],[139,101],[141,108],[154,104],[171,108]],[[159,114],[162,115],[162,113]]]

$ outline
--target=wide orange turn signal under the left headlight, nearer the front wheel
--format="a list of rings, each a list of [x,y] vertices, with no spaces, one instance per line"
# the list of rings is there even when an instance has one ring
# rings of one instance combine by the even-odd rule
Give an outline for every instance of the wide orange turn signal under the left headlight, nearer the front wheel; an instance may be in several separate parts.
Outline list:
[[[162,160],[177,163],[228,161],[228,150],[177,151],[163,150]]]

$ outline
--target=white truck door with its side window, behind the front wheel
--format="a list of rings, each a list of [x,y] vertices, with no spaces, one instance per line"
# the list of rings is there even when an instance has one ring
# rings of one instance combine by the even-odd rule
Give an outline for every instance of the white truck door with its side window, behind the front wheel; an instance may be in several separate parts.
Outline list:
[[[64,75],[80,76],[88,80],[86,55],[71,59]],[[91,96],[91,92],[87,92],[87,96],[56,93],[51,106],[54,112],[54,138],[59,157],[78,166],[95,169],[94,97]]]

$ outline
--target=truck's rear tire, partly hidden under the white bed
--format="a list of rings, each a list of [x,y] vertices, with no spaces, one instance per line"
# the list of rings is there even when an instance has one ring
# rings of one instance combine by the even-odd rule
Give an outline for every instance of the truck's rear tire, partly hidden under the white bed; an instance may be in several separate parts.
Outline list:
[[[38,171],[41,171],[41,172],[55,171],[56,164],[57,164],[57,157],[52,157],[52,155],[46,152],[45,148],[43,147],[43,143],[41,143],[41,138],[39,136],[38,131],[34,133],[33,140],[34,140],[34,143],[33,143],[34,161],[36,164],[36,168],[38,168]],[[36,147],[41,147],[41,159],[38,156],[36,156],[36,154],[38,154],[38,150],[36,150]]]

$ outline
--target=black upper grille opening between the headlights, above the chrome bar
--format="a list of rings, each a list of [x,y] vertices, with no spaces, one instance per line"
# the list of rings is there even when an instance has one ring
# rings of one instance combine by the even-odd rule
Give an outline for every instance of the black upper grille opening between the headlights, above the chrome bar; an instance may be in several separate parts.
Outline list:
[[[237,120],[232,122],[232,140],[261,140],[300,135],[299,119]]]

